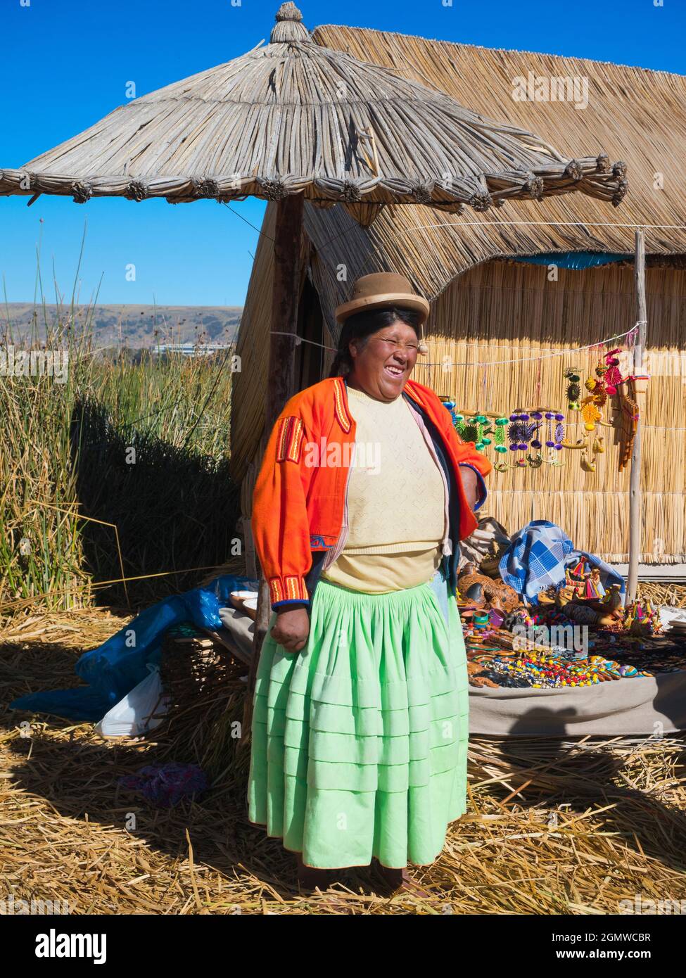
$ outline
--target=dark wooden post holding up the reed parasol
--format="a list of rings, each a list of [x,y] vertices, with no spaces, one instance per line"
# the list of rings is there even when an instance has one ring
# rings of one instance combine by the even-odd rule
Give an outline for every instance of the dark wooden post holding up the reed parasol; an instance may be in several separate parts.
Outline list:
[[[271,432],[281,409],[294,393],[296,371],[297,303],[300,290],[300,248],[302,240],[302,194],[289,194],[279,200],[274,233],[274,272],[272,277],[271,336],[269,340],[269,373],[267,375],[267,404],[265,431]],[[291,335],[281,335],[291,333]],[[264,575],[259,578],[257,612],[252,638],[251,668],[243,713],[241,743],[250,739],[252,725],[252,696],[259,653],[269,627],[271,601],[269,585]]]

